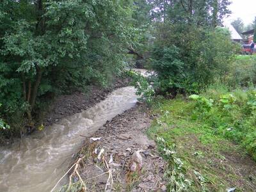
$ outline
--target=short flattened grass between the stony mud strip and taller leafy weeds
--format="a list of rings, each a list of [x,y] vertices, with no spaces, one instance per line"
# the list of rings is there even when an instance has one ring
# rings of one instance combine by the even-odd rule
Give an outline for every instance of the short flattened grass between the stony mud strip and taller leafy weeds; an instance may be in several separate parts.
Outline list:
[[[218,92],[205,95],[218,97]],[[183,98],[160,99],[153,105],[152,113],[159,117],[147,133],[156,140],[159,152],[168,162],[165,174],[168,188],[173,191],[226,191],[236,187],[236,191],[253,191],[256,178],[248,179],[250,175],[243,173],[238,176],[241,167],[230,160],[243,161],[248,172],[256,168],[243,145],[235,145],[232,138],[216,130],[209,116],[193,119],[195,108],[195,102]],[[226,119],[221,118],[218,109],[219,106],[213,107],[209,113],[216,113],[215,120],[222,123]]]

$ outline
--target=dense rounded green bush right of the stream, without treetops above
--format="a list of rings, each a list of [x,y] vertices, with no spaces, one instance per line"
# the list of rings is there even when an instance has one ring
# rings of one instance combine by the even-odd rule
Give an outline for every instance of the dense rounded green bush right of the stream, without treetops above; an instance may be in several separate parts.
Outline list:
[[[161,93],[199,92],[225,80],[237,48],[226,29],[160,24],[157,35],[152,69]]]

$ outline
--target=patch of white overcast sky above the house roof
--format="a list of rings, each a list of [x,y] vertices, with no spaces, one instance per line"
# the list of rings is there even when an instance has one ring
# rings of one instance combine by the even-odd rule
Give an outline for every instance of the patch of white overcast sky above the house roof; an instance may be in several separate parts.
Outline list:
[[[244,24],[249,24],[256,16],[256,0],[232,0],[229,8],[232,14],[225,19],[226,22],[232,22],[240,17]]]

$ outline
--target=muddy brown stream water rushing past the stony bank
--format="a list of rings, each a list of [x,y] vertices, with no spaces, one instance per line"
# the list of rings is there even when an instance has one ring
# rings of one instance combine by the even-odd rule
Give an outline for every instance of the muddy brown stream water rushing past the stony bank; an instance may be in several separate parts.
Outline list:
[[[1,192],[51,191],[67,172],[72,154],[81,147],[83,136],[90,136],[137,102],[131,86],[115,90],[105,99],[81,113],[0,148]],[[60,184],[65,184],[67,178]]]

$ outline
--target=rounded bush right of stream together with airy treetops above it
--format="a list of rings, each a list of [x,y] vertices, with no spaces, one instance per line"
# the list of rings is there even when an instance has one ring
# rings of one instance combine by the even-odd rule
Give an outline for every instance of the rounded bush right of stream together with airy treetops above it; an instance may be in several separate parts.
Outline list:
[[[228,0],[150,1],[155,10],[153,70],[156,91],[171,96],[198,93],[225,81],[237,45],[227,29],[216,27],[230,13]]]

